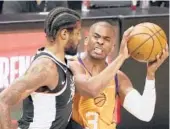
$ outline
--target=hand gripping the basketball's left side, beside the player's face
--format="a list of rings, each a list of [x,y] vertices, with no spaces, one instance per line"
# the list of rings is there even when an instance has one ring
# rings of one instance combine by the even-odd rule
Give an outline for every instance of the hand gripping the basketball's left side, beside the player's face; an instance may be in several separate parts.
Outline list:
[[[130,28],[128,28],[124,34],[123,34],[123,37],[122,37],[122,41],[121,41],[121,44],[120,44],[120,50],[119,50],[119,55],[123,56],[124,59],[127,59],[129,58],[129,52],[128,52],[128,48],[127,48],[127,42],[130,38],[130,33],[133,31],[133,26],[131,26]]]

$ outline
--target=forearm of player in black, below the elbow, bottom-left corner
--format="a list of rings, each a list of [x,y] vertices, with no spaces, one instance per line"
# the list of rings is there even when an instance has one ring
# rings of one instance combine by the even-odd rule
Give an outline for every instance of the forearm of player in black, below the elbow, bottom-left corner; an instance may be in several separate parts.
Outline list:
[[[1,129],[11,129],[10,108],[5,104],[0,104],[0,127]]]

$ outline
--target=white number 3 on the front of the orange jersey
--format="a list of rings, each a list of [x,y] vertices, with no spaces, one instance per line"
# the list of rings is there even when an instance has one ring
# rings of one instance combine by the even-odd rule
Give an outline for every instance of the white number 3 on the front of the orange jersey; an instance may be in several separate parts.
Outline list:
[[[99,115],[96,112],[87,112],[86,119],[89,127],[86,127],[85,129],[98,129],[98,117]]]

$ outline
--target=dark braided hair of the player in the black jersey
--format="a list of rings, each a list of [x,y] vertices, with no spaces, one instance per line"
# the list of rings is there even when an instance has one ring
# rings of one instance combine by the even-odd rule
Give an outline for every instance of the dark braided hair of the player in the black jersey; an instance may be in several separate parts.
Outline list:
[[[65,7],[57,7],[48,14],[44,31],[48,38],[55,40],[55,36],[60,29],[66,28],[71,31],[76,27],[77,21],[80,21],[80,15],[76,11]]]

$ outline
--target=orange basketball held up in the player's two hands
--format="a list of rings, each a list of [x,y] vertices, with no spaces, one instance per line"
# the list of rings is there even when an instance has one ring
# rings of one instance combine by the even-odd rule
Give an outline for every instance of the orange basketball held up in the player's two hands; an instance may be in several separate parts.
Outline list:
[[[155,61],[167,44],[167,37],[161,27],[154,23],[137,24],[128,40],[128,50],[132,58],[140,62]]]

